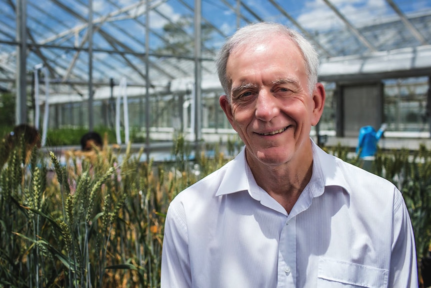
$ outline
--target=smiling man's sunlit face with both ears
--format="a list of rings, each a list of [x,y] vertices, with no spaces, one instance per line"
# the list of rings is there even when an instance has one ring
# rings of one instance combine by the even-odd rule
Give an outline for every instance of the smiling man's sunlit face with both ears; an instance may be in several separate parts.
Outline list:
[[[250,166],[310,157],[309,133],[320,118],[324,90],[317,84],[310,95],[304,60],[291,40],[274,37],[234,50],[226,74],[231,99],[221,96],[220,106],[245,143]]]

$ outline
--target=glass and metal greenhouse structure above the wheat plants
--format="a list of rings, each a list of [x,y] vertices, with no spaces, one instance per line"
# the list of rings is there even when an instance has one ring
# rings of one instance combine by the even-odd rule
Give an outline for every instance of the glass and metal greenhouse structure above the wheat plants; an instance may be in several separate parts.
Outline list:
[[[271,21],[300,31],[319,53],[328,94],[322,133],[356,136],[362,125],[385,122],[388,132],[429,138],[427,1],[0,5],[0,88],[16,95],[16,123],[41,127],[48,115],[48,129],[114,128],[115,115],[123,125],[126,111],[129,126],[142,133],[182,129],[200,139],[229,129],[218,108],[215,53],[237,27]],[[360,93],[375,95],[355,97]],[[347,117],[342,105],[367,112]]]

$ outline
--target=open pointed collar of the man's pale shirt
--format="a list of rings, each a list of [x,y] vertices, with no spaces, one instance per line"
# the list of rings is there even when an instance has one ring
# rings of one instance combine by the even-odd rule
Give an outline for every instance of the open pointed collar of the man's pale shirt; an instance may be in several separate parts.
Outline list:
[[[326,186],[340,186],[346,192],[350,191],[350,186],[345,181],[342,170],[339,167],[340,159],[327,154],[318,147],[312,139],[313,153],[313,175],[310,185],[313,197],[323,194]],[[231,194],[239,191],[248,191],[256,200],[259,200],[258,193],[251,191],[250,186],[255,182],[245,159],[245,146],[236,157],[226,164],[226,171],[215,196]],[[250,181],[252,182],[250,185]],[[257,197],[257,198],[256,198]]]

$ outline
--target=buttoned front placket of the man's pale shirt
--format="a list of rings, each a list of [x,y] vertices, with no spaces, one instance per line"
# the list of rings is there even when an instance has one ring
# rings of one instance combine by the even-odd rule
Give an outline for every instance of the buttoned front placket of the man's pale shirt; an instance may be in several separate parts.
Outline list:
[[[277,288],[294,288],[296,277],[296,217],[283,226],[278,244]]]

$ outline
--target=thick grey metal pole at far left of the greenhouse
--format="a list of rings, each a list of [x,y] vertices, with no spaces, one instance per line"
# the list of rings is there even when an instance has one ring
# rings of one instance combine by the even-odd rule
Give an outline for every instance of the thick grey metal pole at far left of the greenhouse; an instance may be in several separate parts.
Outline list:
[[[15,104],[15,124],[27,123],[27,81],[26,81],[26,0],[16,1],[16,104]]]

